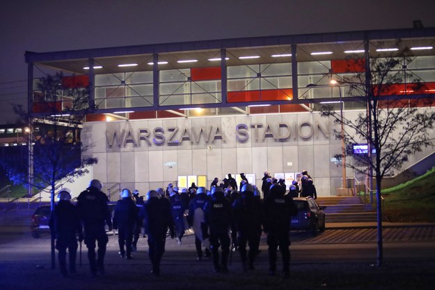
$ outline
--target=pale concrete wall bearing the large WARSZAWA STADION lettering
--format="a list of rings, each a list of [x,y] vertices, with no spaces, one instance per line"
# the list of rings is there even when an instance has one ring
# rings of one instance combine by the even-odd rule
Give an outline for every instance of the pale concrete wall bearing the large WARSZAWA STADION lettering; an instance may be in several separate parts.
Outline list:
[[[357,114],[345,112],[349,118]],[[242,125],[237,130],[239,124],[247,129]],[[273,176],[306,169],[317,194],[329,196],[336,194],[342,177],[341,165],[331,160],[341,152],[340,140],[332,135],[334,128],[340,128],[334,126],[338,125],[332,120],[308,112],[90,122],[84,125],[81,139],[88,146],[84,154],[98,158],[93,178],[107,188],[122,183],[121,188],[145,194],[166,187],[179,175],[205,175],[209,185],[214,177],[221,180],[228,173],[241,172],[255,174],[260,187],[266,170]],[[200,128],[211,132],[208,141],[206,135],[199,135]],[[427,154],[419,155],[432,151],[428,148]],[[349,168],[347,176],[354,176]]]

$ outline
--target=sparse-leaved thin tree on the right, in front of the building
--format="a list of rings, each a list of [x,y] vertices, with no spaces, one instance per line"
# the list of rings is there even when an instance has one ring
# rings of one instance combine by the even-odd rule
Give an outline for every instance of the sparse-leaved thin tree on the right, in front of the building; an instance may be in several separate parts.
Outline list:
[[[370,63],[361,59],[349,61],[355,66],[361,63],[365,66],[364,73],[337,79],[339,86],[347,87],[350,96],[361,96],[366,103],[366,112],[358,114],[356,119],[343,117],[331,107],[322,108],[322,116],[332,117],[335,123],[344,125],[344,134],[335,131],[334,135],[336,139],[344,139],[345,155],[354,158],[354,162],[345,162],[345,166],[376,180],[377,266],[381,266],[383,260],[382,179],[393,169],[401,169],[409,155],[433,146],[434,142],[429,135],[435,120],[435,112],[430,108],[433,97],[425,93],[424,79],[408,69],[413,61],[409,52],[405,47],[400,53],[370,59]],[[356,154],[352,147],[361,142],[367,144],[367,149]],[[336,157],[340,160],[345,156]]]

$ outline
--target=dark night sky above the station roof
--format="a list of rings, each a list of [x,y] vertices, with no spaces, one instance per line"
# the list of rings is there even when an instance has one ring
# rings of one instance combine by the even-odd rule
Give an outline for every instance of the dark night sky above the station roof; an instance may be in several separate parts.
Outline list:
[[[26,102],[26,50],[429,27],[434,11],[434,0],[2,1],[0,123],[15,118],[8,104]]]

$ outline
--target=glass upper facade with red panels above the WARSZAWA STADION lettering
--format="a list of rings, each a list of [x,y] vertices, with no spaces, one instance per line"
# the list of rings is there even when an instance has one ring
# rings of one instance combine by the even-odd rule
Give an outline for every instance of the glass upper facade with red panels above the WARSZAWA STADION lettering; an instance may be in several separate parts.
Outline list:
[[[118,59],[96,57],[94,75],[90,75],[94,78],[91,89],[95,108],[104,112],[177,110],[195,116],[195,112],[187,112],[184,107],[203,105],[201,116],[206,112],[244,114],[250,102],[276,106],[253,112],[292,112],[288,111],[289,105],[305,104],[318,109],[318,103],[328,99],[365,96],[365,59],[369,59],[373,70],[375,63],[394,58],[397,66],[382,79],[373,79],[373,85],[388,83],[390,89],[384,94],[390,95],[433,94],[435,50],[430,43],[434,43],[434,38],[376,39],[366,45],[351,40],[198,50],[180,45],[178,52],[126,54]],[[364,47],[368,47],[368,52]],[[81,61],[80,66],[88,63]],[[86,73],[77,69],[76,76],[88,77]],[[332,85],[333,79],[340,83]],[[420,82],[422,89],[412,89],[413,82]],[[41,98],[40,93],[34,93],[33,103]],[[349,98],[347,102],[347,109],[364,107],[358,100]],[[213,105],[216,109],[211,109]]]

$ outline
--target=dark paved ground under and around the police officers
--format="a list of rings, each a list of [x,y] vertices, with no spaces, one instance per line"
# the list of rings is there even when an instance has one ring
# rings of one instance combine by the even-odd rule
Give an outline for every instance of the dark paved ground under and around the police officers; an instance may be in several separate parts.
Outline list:
[[[435,285],[435,259],[420,257],[418,260],[388,260],[383,266],[373,265],[372,257],[367,261],[339,261],[329,259],[304,260],[298,257],[302,247],[318,247],[323,239],[331,241],[357,241],[356,231],[342,224],[330,227],[325,234],[315,238],[303,238],[303,234],[292,234],[290,247],[294,259],[291,264],[291,277],[288,280],[278,273],[275,277],[268,274],[267,246],[262,242],[262,252],[258,257],[256,269],[244,273],[239,262],[239,255],[233,252],[230,273],[216,274],[212,271],[209,259],[196,261],[193,236],[184,238],[183,245],[178,246],[168,239],[166,253],[161,264],[161,277],[150,274],[148,247],[146,239],[139,241],[139,251],[134,259],[127,261],[116,254],[116,238],[111,236],[106,259],[106,274],[90,277],[86,248],[82,256],[82,266],[78,273],[64,278],[59,275],[58,268],[51,269],[49,259],[49,238],[32,239],[28,232],[19,236],[19,240],[28,243],[28,247],[12,252],[13,241],[1,244],[0,247],[0,289],[433,289]],[[372,224],[360,224],[363,228],[361,239],[373,246]],[[386,242],[418,243],[420,238],[434,245],[435,238],[432,227],[386,227],[386,238],[400,241]],[[404,229],[399,231],[398,229]],[[420,230],[419,230],[420,229]],[[405,234],[398,234],[398,233]],[[8,234],[6,234],[7,236]],[[343,236],[344,235],[344,236]],[[339,238],[341,236],[341,238]],[[329,237],[329,238],[328,238]],[[335,238],[334,238],[335,237]],[[3,236],[4,238],[4,236]],[[344,239],[344,240],[343,240]],[[317,241],[317,242],[315,242]],[[334,247],[349,247],[351,243],[338,243]],[[8,249],[10,251],[8,252]],[[326,245],[326,251],[329,247]],[[325,256],[329,253],[325,252]],[[279,265],[279,260],[278,260]]]

